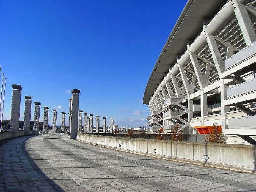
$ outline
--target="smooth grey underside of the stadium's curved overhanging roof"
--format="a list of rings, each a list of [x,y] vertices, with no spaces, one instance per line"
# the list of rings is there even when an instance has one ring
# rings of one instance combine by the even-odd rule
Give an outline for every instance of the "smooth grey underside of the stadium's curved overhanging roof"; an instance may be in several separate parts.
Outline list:
[[[176,63],[176,56],[186,50],[187,40],[194,39],[203,28],[204,18],[210,17],[223,1],[227,0],[188,0],[160,53],[145,88],[143,104],[149,104],[160,81]]]

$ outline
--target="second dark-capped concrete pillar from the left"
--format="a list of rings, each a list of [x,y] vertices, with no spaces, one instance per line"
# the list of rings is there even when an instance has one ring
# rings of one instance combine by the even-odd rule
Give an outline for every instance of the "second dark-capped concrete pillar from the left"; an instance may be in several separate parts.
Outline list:
[[[25,96],[24,126],[23,126],[25,135],[30,135],[31,103],[32,103],[32,97]]]

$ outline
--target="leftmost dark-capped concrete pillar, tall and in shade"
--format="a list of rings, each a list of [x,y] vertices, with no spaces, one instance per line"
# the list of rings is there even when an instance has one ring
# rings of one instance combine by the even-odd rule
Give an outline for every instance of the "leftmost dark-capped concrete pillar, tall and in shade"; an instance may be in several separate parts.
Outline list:
[[[19,137],[21,90],[21,85],[12,85],[12,110],[10,121],[10,130],[12,131],[12,137]]]

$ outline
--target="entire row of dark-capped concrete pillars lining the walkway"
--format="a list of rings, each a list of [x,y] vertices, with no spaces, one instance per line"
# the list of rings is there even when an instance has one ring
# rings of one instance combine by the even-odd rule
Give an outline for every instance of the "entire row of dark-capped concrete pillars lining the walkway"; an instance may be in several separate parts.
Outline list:
[[[21,85],[12,85],[12,110],[11,110],[11,121],[10,130],[12,131],[12,137],[19,137],[19,119],[20,119],[20,101],[21,101]],[[69,111],[69,136],[70,139],[76,139],[77,133],[93,133],[93,114],[88,117],[87,113],[84,113],[84,128],[82,131],[82,116],[83,111],[79,111],[79,89],[72,90],[72,98],[70,98],[70,111]],[[38,134],[39,132],[39,118],[40,118],[40,102],[34,102],[34,126],[33,130],[30,130],[31,120],[31,105],[32,97],[25,96],[25,110],[24,110],[24,131],[26,135]],[[49,107],[44,107],[44,121],[43,121],[43,133],[48,133],[48,113]],[[65,130],[66,113],[61,112],[61,131]],[[52,131],[56,132],[57,122],[57,110],[52,110]],[[111,119],[110,132],[113,132],[113,122]],[[103,117],[102,132],[106,132],[106,117]],[[96,116],[96,133],[99,133],[99,116]]]

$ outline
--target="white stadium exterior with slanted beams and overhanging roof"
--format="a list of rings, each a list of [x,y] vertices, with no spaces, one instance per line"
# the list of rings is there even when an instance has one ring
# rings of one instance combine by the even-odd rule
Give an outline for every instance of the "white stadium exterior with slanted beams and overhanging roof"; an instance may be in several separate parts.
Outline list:
[[[221,125],[255,144],[256,0],[188,0],[145,88],[151,131]]]

